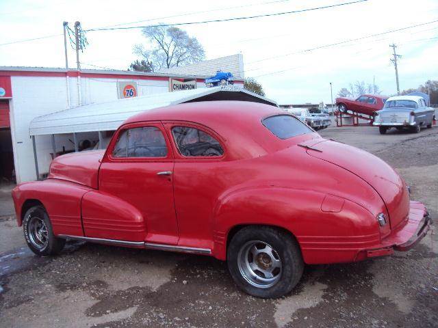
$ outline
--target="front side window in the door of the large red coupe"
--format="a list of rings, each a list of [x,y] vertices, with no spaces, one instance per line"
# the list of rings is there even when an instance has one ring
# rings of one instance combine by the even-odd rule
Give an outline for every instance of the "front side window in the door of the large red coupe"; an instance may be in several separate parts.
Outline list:
[[[155,126],[130,128],[118,137],[112,152],[114,157],[166,157],[164,135]]]

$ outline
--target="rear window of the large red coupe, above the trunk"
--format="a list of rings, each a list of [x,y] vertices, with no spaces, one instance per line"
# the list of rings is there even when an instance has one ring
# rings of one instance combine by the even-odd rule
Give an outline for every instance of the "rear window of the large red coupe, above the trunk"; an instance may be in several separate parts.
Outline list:
[[[312,133],[313,130],[292,115],[275,115],[261,121],[269,131],[280,139],[289,139],[296,135]]]

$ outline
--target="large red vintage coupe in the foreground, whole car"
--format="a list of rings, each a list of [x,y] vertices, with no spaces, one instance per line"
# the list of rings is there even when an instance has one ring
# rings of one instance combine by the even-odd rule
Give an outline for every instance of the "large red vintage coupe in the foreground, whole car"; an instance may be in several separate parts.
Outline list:
[[[140,113],[106,151],[59,156],[12,195],[38,255],[66,238],[205,254],[257,297],[290,292],[305,264],[405,251],[430,225],[381,159],[254,102]]]

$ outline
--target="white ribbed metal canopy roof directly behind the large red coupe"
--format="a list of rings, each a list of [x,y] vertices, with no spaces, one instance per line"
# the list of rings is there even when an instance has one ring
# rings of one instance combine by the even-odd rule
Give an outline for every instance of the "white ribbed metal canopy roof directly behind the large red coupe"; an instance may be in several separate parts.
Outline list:
[[[209,98],[210,97],[210,98]],[[52,135],[116,130],[127,118],[157,107],[201,100],[246,100],[277,106],[276,102],[238,87],[209,87],[73,107],[38,116],[29,125],[30,135]]]

